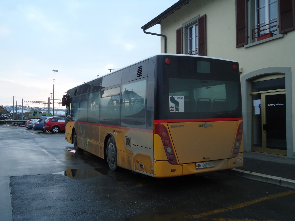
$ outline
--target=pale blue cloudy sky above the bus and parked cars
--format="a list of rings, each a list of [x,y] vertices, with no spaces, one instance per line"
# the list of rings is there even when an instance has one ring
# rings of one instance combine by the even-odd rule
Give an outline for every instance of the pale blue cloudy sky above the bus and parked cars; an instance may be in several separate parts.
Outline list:
[[[108,69],[159,54],[160,37],[141,27],[177,1],[1,0],[0,105],[52,99],[53,78],[61,102],[65,91]],[[160,25],[148,32],[160,33]]]

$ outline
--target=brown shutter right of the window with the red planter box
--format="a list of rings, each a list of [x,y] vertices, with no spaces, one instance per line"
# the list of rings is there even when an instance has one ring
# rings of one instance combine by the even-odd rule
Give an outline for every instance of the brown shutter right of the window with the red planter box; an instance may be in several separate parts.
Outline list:
[[[279,34],[295,29],[295,0],[278,0]]]

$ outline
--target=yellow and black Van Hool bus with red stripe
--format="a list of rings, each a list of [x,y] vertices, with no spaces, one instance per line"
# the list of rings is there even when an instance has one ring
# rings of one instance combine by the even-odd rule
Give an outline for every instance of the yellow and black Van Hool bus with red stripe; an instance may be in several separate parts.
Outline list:
[[[152,177],[243,165],[236,61],[159,54],[67,91],[74,149]]]

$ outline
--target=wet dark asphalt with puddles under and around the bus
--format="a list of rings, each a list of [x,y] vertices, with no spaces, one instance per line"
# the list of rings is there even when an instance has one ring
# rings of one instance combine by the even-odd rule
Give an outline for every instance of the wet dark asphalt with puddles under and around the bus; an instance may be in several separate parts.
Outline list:
[[[294,220],[294,189],[212,172],[156,179],[0,126],[0,220]]]

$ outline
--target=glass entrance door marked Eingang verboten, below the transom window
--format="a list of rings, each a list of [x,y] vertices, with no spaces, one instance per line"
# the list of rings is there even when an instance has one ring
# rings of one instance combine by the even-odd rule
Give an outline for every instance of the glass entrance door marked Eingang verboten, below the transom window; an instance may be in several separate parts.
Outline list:
[[[285,92],[252,95],[252,150],[286,155]]]

